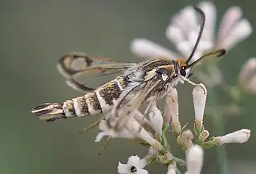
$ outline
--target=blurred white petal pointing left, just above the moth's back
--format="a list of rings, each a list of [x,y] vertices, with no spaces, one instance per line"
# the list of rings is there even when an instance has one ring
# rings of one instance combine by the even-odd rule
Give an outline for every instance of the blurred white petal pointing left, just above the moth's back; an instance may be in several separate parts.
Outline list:
[[[135,38],[131,43],[131,50],[138,57],[152,58],[152,57],[170,57],[171,59],[177,59],[179,56],[169,49],[159,46],[152,41],[148,41],[145,38]]]

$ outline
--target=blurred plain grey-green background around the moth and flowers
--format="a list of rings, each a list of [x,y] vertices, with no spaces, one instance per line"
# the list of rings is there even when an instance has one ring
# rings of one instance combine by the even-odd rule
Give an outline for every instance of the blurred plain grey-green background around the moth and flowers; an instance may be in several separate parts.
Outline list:
[[[101,157],[103,142],[95,143],[97,128],[79,134],[96,117],[45,123],[31,114],[31,108],[47,101],[65,101],[82,95],[65,85],[56,70],[60,56],[69,51],[83,51],[118,60],[141,60],[129,49],[133,38],[148,38],[173,48],[165,37],[170,17],[196,1],[108,0],[108,1],[1,1],[1,100],[0,100],[0,173],[69,174],[117,173],[117,163],[126,163],[131,154],[143,157],[147,149],[133,141],[114,139]],[[255,2],[214,1],[217,20],[232,5],[243,9],[244,17],[256,27]],[[241,65],[256,56],[255,33],[225,57],[222,68],[227,83],[235,84]],[[180,86],[182,123],[193,122],[191,86]],[[217,96],[227,101],[228,96]],[[256,171],[255,96],[247,95],[239,115],[225,115],[225,133],[249,128],[247,144],[226,146],[229,173]],[[97,116],[99,117],[99,116]],[[211,118],[204,124],[214,133]],[[192,128],[192,124],[189,125]],[[215,135],[218,136],[218,135]],[[170,139],[172,135],[170,134]],[[171,143],[172,144],[172,143]],[[181,155],[174,147],[173,152]],[[218,173],[216,148],[205,152],[203,173]],[[161,165],[148,167],[149,173],[167,173]]]

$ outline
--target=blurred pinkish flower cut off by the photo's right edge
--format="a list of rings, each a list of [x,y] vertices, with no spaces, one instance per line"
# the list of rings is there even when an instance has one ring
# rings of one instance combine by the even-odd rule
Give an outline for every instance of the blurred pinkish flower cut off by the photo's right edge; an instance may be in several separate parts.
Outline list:
[[[244,91],[256,94],[256,58],[252,57],[244,63],[239,73],[239,86]]]

